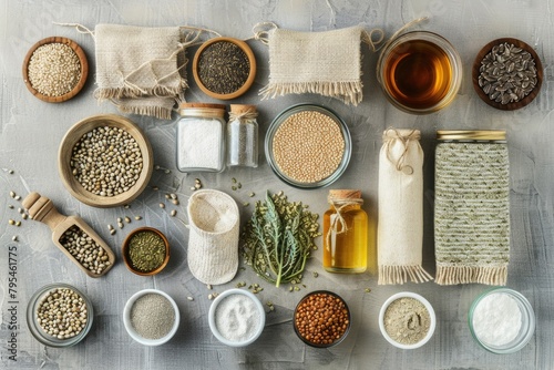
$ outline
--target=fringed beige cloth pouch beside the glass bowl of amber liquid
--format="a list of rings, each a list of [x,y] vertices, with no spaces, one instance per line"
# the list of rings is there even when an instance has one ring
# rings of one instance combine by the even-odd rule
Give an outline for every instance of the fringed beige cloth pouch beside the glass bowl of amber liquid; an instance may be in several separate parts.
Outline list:
[[[275,25],[275,24],[274,24]],[[372,33],[380,39],[372,40]],[[267,40],[259,37],[267,34]],[[360,41],[373,51],[382,31],[351,27],[324,32],[298,32],[276,28],[257,33],[269,45],[269,83],[263,100],[286,94],[315,93],[358,105],[362,100]]]

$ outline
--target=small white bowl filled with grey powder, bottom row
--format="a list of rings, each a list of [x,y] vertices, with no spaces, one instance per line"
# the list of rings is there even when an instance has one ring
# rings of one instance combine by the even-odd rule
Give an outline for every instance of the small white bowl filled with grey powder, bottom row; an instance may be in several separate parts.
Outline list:
[[[123,325],[131,338],[144,346],[161,346],[177,332],[181,316],[177,304],[166,292],[144,289],[129,298]]]

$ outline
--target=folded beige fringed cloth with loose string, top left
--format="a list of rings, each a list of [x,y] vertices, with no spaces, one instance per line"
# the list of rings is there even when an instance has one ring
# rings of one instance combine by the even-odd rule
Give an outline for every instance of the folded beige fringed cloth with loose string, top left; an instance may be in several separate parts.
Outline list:
[[[187,88],[177,62],[185,50],[181,32],[179,27],[98,24],[94,96],[111,100],[123,113],[170,120]]]

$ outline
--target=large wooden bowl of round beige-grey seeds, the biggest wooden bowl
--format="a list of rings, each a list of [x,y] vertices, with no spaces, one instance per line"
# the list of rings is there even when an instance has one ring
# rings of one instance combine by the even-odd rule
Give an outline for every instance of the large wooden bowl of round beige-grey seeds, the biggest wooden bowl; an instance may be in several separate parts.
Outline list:
[[[152,146],[132,121],[115,114],[75,123],[62,138],[58,167],[78,201],[100,208],[131,203],[147,186]]]

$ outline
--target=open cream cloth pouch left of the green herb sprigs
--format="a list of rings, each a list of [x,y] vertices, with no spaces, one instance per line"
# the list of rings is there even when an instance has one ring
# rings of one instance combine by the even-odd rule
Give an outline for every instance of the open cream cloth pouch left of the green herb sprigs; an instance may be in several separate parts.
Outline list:
[[[230,281],[238,269],[239,213],[227,194],[196,191],[188,199],[188,268],[204,284]]]

